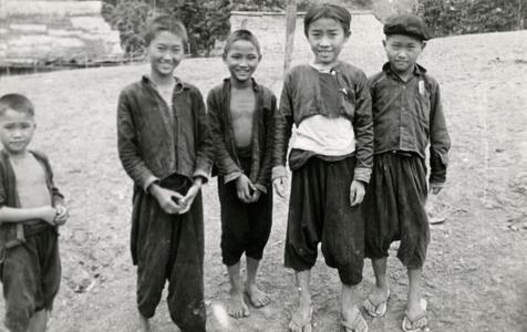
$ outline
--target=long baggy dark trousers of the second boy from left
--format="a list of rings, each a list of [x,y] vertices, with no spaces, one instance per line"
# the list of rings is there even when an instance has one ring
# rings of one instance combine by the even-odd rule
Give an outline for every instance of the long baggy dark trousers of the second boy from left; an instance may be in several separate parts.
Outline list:
[[[190,181],[174,175],[161,186],[185,195]],[[141,189],[134,193],[132,257],[137,264],[137,308],[152,318],[168,281],[168,311],[185,332],[205,331],[203,218],[202,193],[184,215],[168,215],[154,196]]]

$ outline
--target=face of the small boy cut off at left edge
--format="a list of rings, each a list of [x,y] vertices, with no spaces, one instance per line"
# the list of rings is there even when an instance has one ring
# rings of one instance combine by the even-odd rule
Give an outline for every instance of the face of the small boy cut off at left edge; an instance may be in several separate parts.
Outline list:
[[[0,141],[6,152],[11,155],[24,153],[34,128],[33,115],[7,108],[0,115]]]

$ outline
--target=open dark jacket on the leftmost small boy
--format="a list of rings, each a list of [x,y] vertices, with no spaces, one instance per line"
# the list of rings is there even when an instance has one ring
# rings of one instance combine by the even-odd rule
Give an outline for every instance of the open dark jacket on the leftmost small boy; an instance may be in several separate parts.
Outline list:
[[[48,157],[40,152],[31,151],[34,158],[42,165],[45,173],[45,183],[50,190],[53,207],[63,204],[64,197],[53,183],[53,172],[51,170]],[[0,207],[20,208],[17,193],[17,179],[14,170],[9,162],[9,155],[0,151]],[[29,220],[28,220],[29,221]],[[0,260],[3,258],[3,250],[12,248],[25,241],[23,222],[1,222],[0,224]]]

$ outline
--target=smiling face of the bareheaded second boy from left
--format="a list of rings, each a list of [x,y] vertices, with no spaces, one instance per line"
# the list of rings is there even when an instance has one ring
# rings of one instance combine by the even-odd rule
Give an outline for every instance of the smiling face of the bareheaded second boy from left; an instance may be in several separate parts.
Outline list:
[[[147,54],[153,76],[172,76],[185,55],[183,39],[173,32],[161,31],[148,44]]]

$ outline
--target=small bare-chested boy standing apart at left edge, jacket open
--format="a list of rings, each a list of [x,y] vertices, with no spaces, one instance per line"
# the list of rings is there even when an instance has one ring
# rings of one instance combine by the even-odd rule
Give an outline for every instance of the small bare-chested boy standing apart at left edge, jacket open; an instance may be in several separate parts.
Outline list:
[[[9,331],[45,331],[61,281],[58,227],[68,219],[45,155],[28,149],[35,128],[23,95],[0,97],[0,278]]]

